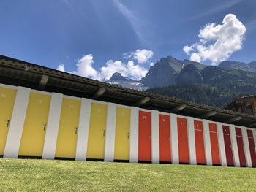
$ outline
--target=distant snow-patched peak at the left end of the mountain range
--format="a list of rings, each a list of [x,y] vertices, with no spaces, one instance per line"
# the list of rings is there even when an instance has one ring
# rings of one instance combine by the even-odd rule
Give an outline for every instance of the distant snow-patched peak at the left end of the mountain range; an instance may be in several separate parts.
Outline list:
[[[124,88],[133,88],[137,90],[145,90],[146,87],[143,87],[140,81],[132,80],[127,77],[123,77],[120,73],[116,72],[110,77],[110,80],[106,81],[113,85],[120,85]]]

